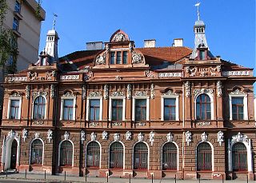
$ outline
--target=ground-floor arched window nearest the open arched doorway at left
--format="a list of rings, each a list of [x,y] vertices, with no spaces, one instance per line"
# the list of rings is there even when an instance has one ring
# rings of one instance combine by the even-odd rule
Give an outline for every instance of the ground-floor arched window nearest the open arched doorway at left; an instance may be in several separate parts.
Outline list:
[[[36,139],[31,144],[30,164],[42,165],[42,141]]]

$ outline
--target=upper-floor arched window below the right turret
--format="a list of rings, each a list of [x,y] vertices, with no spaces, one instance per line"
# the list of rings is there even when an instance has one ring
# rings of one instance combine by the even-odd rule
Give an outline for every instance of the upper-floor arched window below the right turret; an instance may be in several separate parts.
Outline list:
[[[196,101],[197,119],[210,120],[210,97],[206,94],[200,94]]]

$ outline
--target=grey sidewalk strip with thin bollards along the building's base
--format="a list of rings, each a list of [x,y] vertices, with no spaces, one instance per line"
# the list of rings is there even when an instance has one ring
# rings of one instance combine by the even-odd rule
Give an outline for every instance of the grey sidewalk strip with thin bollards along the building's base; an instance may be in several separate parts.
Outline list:
[[[6,179],[5,174],[0,175],[0,180]],[[34,181],[47,181],[47,182],[87,182],[87,183],[105,183],[107,182],[106,178],[98,178],[98,177],[65,177],[64,176],[56,176],[56,175],[46,175],[46,179],[44,177],[44,174],[25,174],[23,173],[14,173],[14,174],[8,174],[7,179],[16,179],[16,180],[34,180]],[[87,179],[87,180],[86,180]],[[109,183],[129,183],[129,179],[124,178],[114,178],[109,177],[108,180]],[[149,179],[138,179],[138,178],[131,178],[130,183],[151,183],[152,180]],[[177,183],[222,183],[222,180],[177,180]],[[227,183],[246,183],[246,180],[235,180],[235,181],[224,181]],[[250,183],[255,181],[248,181]],[[153,180],[153,183],[175,183],[174,179],[162,179],[162,180]]]

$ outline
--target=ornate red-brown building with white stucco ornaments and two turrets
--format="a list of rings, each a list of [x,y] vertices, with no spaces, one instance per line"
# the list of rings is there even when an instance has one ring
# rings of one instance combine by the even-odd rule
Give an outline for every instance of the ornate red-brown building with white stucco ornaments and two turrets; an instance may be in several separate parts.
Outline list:
[[[58,58],[58,34],[27,70],[6,77],[5,171],[91,177],[246,178],[256,170],[253,69],[210,53],[135,48],[122,30],[103,50]]]

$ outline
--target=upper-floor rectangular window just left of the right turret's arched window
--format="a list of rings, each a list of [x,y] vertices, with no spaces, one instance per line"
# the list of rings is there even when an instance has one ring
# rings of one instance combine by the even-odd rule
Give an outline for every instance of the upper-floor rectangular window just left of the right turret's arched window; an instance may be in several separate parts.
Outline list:
[[[170,121],[176,119],[176,99],[165,98],[164,99],[164,121]]]

